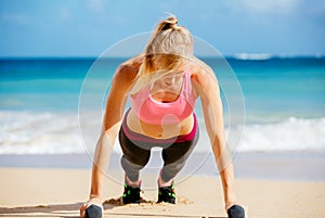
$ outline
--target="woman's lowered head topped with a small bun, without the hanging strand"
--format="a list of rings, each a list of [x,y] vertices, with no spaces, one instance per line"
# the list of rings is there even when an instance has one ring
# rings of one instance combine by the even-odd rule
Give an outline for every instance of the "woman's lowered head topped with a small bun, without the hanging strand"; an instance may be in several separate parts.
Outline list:
[[[179,68],[193,55],[193,38],[188,29],[178,26],[178,18],[161,21],[145,48],[146,73]]]

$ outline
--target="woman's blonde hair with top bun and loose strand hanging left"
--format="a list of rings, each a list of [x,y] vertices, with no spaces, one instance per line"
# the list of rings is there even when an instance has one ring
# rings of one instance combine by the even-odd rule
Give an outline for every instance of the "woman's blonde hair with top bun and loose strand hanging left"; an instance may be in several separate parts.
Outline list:
[[[161,21],[144,50],[144,61],[140,66],[131,94],[165,74],[185,69],[193,56],[193,37],[184,26],[178,26],[178,18],[170,16]]]

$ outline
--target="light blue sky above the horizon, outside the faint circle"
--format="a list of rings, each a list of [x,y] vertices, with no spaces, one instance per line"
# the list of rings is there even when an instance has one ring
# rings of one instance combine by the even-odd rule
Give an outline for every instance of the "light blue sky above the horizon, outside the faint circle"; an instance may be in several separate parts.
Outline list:
[[[224,55],[325,54],[323,0],[0,0],[0,56],[98,56],[168,13]]]

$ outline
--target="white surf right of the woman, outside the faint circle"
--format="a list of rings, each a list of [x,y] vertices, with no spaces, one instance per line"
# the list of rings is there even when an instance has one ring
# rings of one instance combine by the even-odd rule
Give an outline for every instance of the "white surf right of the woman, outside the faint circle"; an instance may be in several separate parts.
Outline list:
[[[324,117],[246,125],[238,151],[321,151],[325,150],[324,136]]]

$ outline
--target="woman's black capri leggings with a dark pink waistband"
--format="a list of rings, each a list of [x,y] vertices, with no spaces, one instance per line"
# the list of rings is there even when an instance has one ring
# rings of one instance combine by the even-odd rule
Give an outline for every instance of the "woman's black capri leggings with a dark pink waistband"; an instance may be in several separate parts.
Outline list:
[[[131,131],[127,126],[127,116],[119,131],[119,143],[122,150],[121,166],[131,181],[139,180],[139,174],[147,164],[153,148],[162,148],[164,167],[161,179],[169,181],[174,178],[185,165],[195,148],[199,131],[195,115],[193,129],[188,134],[172,139],[154,139]]]

